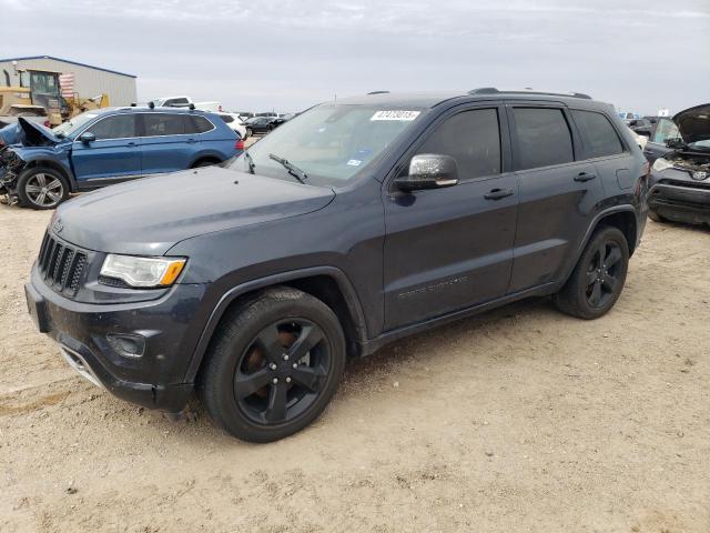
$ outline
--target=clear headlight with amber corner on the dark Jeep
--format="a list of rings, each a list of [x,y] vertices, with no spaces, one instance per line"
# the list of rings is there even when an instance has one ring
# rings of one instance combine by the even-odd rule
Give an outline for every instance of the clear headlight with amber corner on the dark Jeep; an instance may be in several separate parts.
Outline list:
[[[110,253],[101,266],[101,275],[122,280],[131,286],[170,286],[185,265],[186,259],[136,258]]]

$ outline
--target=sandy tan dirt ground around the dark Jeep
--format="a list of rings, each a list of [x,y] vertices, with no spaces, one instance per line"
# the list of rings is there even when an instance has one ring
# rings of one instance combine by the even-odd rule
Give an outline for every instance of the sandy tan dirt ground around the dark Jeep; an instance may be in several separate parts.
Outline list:
[[[710,232],[649,222],[595,322],[530,300],[348,365],[274,444],[77,376],[22,284],[49,213],[0,205],[0,531],[710,531]]]

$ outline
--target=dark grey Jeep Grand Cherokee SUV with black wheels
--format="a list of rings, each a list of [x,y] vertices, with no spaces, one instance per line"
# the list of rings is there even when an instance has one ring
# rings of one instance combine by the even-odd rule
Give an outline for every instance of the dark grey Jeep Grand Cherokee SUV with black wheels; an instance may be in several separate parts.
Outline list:
[[[596,319],[646,223],[613,108],[496,89],[317,105],[225,167],[57,211],[26,285],[39,330],[113,394],[266,442],[347,358],[527,296]]]

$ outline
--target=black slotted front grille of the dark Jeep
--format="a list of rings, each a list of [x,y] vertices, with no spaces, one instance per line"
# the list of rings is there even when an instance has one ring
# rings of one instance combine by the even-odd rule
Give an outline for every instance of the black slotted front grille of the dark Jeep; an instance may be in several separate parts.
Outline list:
[[[38,269],[49,286],[69,296],[75,295],[85,268],[84,252],[62,244],[49,233],[44,234]]]

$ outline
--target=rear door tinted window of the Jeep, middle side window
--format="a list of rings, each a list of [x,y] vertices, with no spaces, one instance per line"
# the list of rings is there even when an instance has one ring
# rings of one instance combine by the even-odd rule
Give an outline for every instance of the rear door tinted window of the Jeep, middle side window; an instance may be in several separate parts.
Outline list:
[[[516,108],[514,115],[521,169],[575,160],[572,138],[560,109]]]

